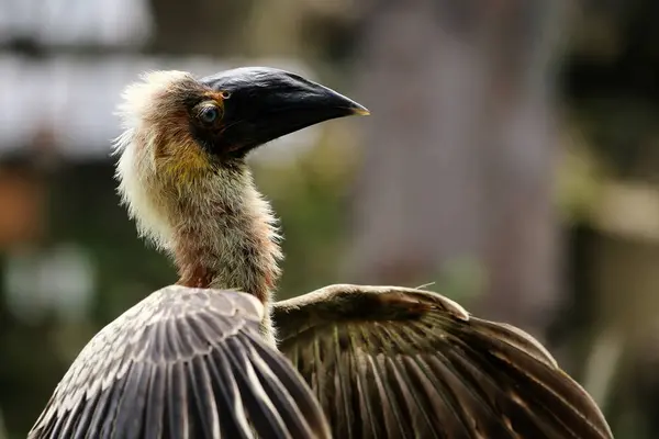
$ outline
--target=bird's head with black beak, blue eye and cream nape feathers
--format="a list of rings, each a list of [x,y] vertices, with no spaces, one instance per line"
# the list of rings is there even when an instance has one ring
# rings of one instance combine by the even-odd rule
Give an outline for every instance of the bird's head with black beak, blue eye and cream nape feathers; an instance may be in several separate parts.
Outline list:
[[[209,184],[231,192],[217,187],[241,184],[245,156],[254,148],[368,111],[298,75],[248,67],[201,79],[183,71],[149,72],[125,89],[119,114],[120,192],[142,232],[164,244],[171,228],[165,223],[172,222],[165,217],[167,206],[203,196]]]

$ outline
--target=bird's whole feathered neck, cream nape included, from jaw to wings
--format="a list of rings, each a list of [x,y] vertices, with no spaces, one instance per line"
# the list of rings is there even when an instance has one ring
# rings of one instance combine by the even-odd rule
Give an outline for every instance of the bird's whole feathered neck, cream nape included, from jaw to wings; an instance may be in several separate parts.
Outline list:
[[[268,305],[282,255],[276,218],[247,165],[156,167],[155,148],[139,140],[125,135],[119,192],[141,235],[174,257],[179,284],[235,289]]]

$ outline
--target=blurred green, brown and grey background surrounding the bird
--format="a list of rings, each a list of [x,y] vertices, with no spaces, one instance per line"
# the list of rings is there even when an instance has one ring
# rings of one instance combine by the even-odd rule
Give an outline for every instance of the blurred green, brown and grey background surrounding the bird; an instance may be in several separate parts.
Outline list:
[[[171,263],[118,205],[121,89],[292,69],[368,106],[250,159],[279,297],[442,292],[528,330],[616,438],[659,437],[659,2],[0,0],[0,438]]]

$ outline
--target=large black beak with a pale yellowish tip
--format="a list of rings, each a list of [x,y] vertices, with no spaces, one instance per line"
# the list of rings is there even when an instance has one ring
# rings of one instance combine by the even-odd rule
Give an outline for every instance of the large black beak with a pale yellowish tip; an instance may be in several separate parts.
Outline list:
[[[246,67],[201,79],[228,98],[223,148],[243,154],[277,137],[331,119],[368,115],[357,102],[289,71]]]

